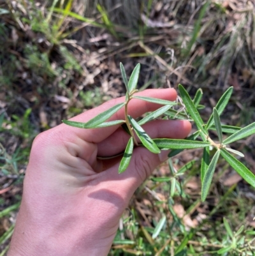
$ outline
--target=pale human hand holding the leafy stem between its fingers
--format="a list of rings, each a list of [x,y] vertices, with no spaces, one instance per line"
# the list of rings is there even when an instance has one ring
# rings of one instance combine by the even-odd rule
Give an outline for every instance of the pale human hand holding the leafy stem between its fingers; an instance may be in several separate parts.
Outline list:
[[[174,89],[150,89],[141,96],[175,100]],[[86,122],[124,102],[110,100],[73,117]],[[160,105],[132,99],[129,115],[139,117]],[[119,110],[109,121],[123,119]],[[143,125],[152,138],[185,138],[188,121],[157,120]],[[129,135],[119,126],[84,130],[61,124],[34,140],[24,180],[9,256],[107,255],[119,219],[136,188],[167,159],[168,151],[150,153],[136,147],[126,172],[118,174]]]

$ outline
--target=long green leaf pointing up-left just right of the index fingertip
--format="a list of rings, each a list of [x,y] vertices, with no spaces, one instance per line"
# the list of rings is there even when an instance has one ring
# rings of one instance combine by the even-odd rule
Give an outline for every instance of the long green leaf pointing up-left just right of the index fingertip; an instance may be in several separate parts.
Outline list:
[[[181,84],[179,84],[179,91],[180,91],[180,96],[182,97],[182,101],[184,102],[187,111],[189,112],[194,122],[196,123],[196,126],[198,126],[198,129],[200,129],[203,133],[207,135],[208,132],[207,130],[205,130],[203,120],[201,119],[201,116],[198,113],[198,110],[196,109],[186,89],[184,89],[184,87]]]

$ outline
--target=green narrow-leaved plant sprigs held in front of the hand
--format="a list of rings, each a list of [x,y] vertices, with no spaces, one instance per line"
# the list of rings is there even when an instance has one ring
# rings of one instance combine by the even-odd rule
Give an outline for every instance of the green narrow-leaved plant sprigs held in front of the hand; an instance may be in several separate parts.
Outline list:
[[[122,124],[124,130],[129,133],[130,139],[126,146],[126,150],[124,151],[122,160],[120,161],[119,173],[124,172],[128,168],[133,154],[133,148],[135,146],[146,147],[150,152],[155,154],[160,153],[161,150],[171,149],[171,152],[168,154],[169,157],[175,156],[184,149],[195,149],[201,147],[203,148],[203,157],[201,158],[201,199],[203,201],[206,199],[210,184],[212,183],[212,177],[214,176],[214,171],[219,160],[219,156],[222,156],[226,162],[228,162],[231,167],[233,167],[233,169],[235,169],[238,174],[240,174],[240,176],[242,176],[245,181],[247,181],[247,183],[255,187],[254,174],[252,174],[252,172],[247,169],[243,163],[237,160],[237,158],[235,158],[231,153],[237,154],[238,156],[244,156],[244,154],[228,147],[228,144],[231,144],[232,142],[240,139],[244,139],[245,137],[255,133],[255,123],[249,124],[244,128],[221,124],[220,116],[226,105],[228,105],[231,93],[233,92],[233,87],[230,87],[224,94],[222,94],[222,97],[215,106],[211,116],[208,119],[208,122],[204,123],[198,112],[198,109],[201,107],[200,100],[203,95],[201,89],[198,89],[194,99],[192,100],[186,89],[184,89],[184,87],[179,84],[179,93],[183,105],[182,110],[185,109],[183,113],[182,111],[177,111],[172,108],[173,106],[178,105],[177,102],[170,102],[167,100],[144,96],[136,96],[135,93],[138,91],[136,86],[140,73],[140,64],[136,65],[129,80],[122,63],[120,63],[120,71],[127,91],[126,100],[124,103],[119,103],[114,107],[106,110],[105,112],[102,112],[87,123],[63,120],[63,123],[78,128],[102,128],[106,126]],[[147,116],[143,117],[143,119],[140,119],[140,121],[136,121],[133,119],[133,117],[128,115],[128,103],[133,98],[147,102],[158,103],[163,105],[163,107],[157,109],[154,112],[151,112]],[[125,119],[107,121],[122,107],[125,109]],[[143,130],[142,125],[148,121],[156,119],[159,116],[162,116],[163,114],[168,117],[175,117],[179,119],[191,119],[196,124],[198,130],[187,137],[187,139],[183,140],[151,139],[145,130]],[[187,114],[189,116],[187,116]],[[216,130],[218,142],[214,142],[214,140],[210,138],[210,130]],[[222,133],[230,133],[231,135],[230,137],[224,139]],[[140,140],[142,145],[138,144],[136,137]],[[210,147],[215,148],[215,154],[212,157],[212,160],[210,160]]]

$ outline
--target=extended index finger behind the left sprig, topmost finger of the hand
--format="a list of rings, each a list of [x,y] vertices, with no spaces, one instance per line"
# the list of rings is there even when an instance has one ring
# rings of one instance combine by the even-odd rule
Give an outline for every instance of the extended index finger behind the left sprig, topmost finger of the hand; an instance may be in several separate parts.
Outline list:
[[[152,98],[160,98],[162,100],[170,100],[173,101],[177,97],[177,93],[175,89],[173,88],[167,88],[167,89],[147,89],[145,91],[142,91],[140,93],[136,94],[137,96],[147,96]],[[108,102],[103,103],[99,107],[96,107],[91,110],[87,110],[86,112],[75,116],[71,118],[71,121],[77,121],[77,122],[87,122],[93,117],[97,116],[101,112],[104,112],[105,110],[110,109],[114,105],[117,105],[119,103],[122,103],[125,101],[125,97],[117,98],[110,100]],[[138,99],[132,99],[128,104],[128,114],[134,118],[141,116],[142,114],[150,111],[154,111],[161,107],[161,105],[151,102],[145,102],[143,100]],[[115,120],[124,120],[125,119],[125,112],[124,108],[120,109],[118,112],[113,114],[112,117],[108,119],[108,121],[115,121]],[[78,137],[80,137],[83,140],[86,140],[87,142],[92,143],[98,143],[102,140],[106,139],[108,136],[110,136],[119,125],[114,126],[108,126],[105,128],[96,128],[96,129],[82,129],[82,128],[74,128],[71,126],[67,126],[66,124],[61,124],[59,128],[61,128],[62,133],[68,135],[75,133]]]

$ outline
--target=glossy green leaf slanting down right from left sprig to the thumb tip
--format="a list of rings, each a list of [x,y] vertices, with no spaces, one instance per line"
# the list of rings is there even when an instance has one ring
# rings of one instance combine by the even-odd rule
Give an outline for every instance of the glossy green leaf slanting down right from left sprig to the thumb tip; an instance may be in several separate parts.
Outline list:
[[[145,146],[150,152],[159,154],[160,149],[157,147],[155,142],[150,139],[149,135],[143,130],[143,128],[138,123],[136,123],[135,119],[133,119],[131,116],[128,116],[128,120],[132,124],[136,135],[141,140],[143,146]]]

